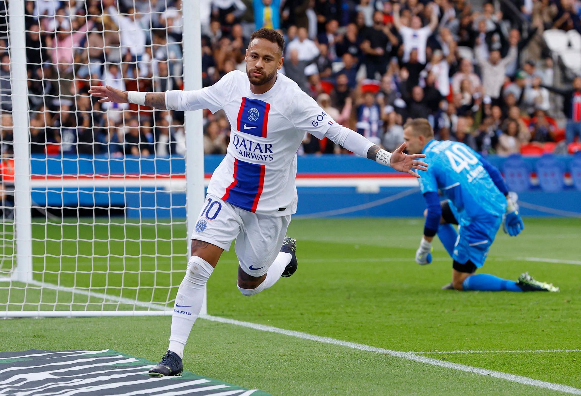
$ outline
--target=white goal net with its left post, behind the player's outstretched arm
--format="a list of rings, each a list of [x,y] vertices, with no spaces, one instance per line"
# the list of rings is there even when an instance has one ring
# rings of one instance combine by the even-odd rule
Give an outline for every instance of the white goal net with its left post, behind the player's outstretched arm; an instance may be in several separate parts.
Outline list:
[[[88,89],[184,89],[182,16],[180,0],[0,1],[0,317],[173,306],[201,149],[185,157],[184,113]]]

